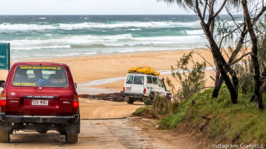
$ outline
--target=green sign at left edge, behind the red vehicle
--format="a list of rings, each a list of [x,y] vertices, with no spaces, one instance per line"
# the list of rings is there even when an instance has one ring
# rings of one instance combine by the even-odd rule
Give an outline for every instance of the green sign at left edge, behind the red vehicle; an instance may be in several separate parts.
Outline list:
[[[10,69],[10,44],[0,43],[0,70]]]

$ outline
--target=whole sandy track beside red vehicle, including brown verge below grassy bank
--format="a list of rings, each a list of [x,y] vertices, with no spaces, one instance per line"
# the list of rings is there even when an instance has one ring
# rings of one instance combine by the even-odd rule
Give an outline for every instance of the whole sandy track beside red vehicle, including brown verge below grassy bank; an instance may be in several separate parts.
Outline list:
[[[10,135],[10,143],[0,144],[0,149],[202,149],[184,135],[155,129],[156,124],[150,119],[84,120],[125,117],[142,106],[143,102],[130,105],[80,98],[82,120],[77,144],[66,144],[65,136],[56,131],[46,134],[18,131]]]

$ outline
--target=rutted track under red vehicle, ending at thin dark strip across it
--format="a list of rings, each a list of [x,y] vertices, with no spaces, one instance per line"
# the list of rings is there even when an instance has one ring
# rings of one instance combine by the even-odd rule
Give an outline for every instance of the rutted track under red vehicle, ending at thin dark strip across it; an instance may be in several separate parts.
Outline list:
[[[1,149],[167,149],[154,143],[145,135],[139,135],[140,129],[127,124],[128,119],[119,120],[82,120],[81,134],[75,145],[65,143],[65,136],[54,131],[47,134],[17,132],[10,135],[10,143],[0,144]]]

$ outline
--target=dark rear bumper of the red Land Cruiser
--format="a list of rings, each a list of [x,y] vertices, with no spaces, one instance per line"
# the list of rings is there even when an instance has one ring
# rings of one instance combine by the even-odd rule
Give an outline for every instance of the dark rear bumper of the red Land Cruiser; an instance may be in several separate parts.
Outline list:
[[[80,114],[71,116],[31,116],[31,115],[8,115],[0,113],[0,120],[7,123],[50,123],[50,124],[73,124],[78,122]]]

